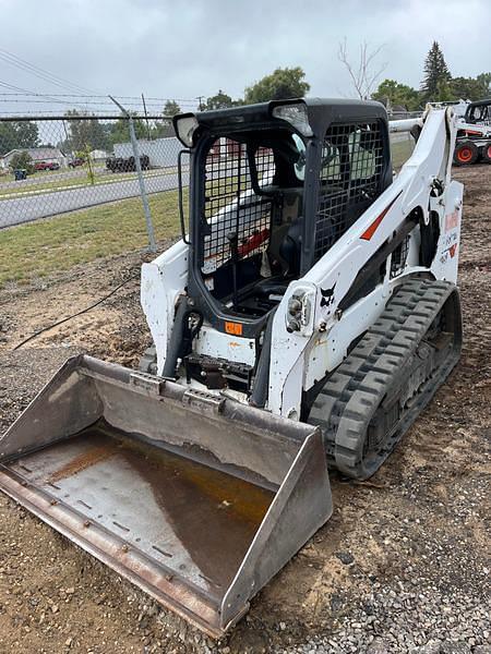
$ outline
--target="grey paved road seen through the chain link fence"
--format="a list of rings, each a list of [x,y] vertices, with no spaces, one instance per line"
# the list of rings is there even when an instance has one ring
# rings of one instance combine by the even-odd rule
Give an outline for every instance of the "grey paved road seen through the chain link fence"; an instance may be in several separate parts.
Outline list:
[[[188,183],[185,172],[182,178]],[[177,174],[172,172],[145,178],[145,184],[147,193],[177,189]],[[139,195],[139,182],[133,179],[22,197],[7,196],[0,199],[0,229]]]

